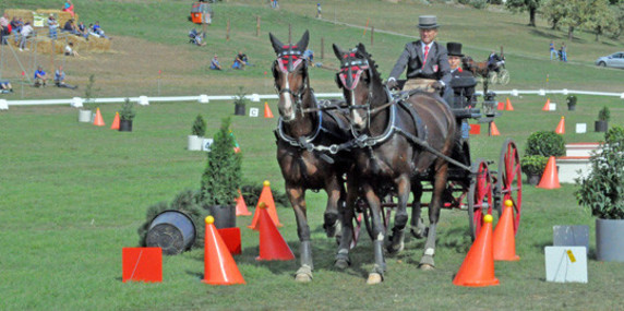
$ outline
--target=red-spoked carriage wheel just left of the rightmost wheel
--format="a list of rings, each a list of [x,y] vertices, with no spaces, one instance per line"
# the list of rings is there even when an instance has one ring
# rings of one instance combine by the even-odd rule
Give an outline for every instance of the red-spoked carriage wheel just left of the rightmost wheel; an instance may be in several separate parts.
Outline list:
[[[492,214],[492,177],[488,164],[477,159],[471,168],[472,179],[468,190],[468,222],[472,240],[483,226],[483,216]]]

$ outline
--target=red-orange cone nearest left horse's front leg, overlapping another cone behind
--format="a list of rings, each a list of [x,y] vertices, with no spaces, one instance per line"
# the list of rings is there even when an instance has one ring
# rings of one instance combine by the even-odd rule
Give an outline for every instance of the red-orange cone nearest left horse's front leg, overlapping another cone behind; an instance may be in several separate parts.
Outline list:
[[[255,260],[293,260],[295,255],[273,224],[266,205],[263,204],[259,210],[260,255]]]

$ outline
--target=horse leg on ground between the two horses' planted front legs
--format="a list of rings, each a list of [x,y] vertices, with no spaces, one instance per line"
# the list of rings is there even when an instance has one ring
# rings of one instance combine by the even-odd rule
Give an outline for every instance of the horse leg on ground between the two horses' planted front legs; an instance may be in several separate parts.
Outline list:
[[[346,195],[346,206],[339,208],[343,223],[341,237],[339,240],[338,252],[336,253],[336,261],[334,266],[340,270],[347,268],[351,264],[349,259],[349,249],[351,248],[353,235],[353,217],[356,211],[356,200],[358,199],[358,187],[351,179],[347,180],[348,191]],[[341,201],[341,200],[340,200]]]

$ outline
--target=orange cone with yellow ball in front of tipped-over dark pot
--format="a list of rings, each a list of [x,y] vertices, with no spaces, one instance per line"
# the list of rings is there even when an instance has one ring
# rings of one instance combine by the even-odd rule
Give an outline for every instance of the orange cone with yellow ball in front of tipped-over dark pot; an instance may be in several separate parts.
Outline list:
[[[214,223],[213,216],[206,217],[204,279],[202,282],[212,285],[245,284]]]

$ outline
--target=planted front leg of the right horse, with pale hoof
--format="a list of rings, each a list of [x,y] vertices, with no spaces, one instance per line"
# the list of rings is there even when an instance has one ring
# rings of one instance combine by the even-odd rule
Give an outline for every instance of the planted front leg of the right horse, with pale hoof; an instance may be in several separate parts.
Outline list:
[[[367,279],[367,284],[379,284],[382,283],[384,279],[384,272],[386,270],[386,263],[384,260],[384,251],[383,251],[383,243],[384,243],[384,235],[385,235],[385,227],[382,220],[382,208],[381,208],[381,201],[376,193],[373,191],[371,184],[365,184],[363,187],[363,193],[367,198],[367,202],[369,203],[369,208],[371,208],[371,220],[373,226],[373,254],[375,259],[375,263],[373,265],[373,270],[369,273],[369,278]]]

